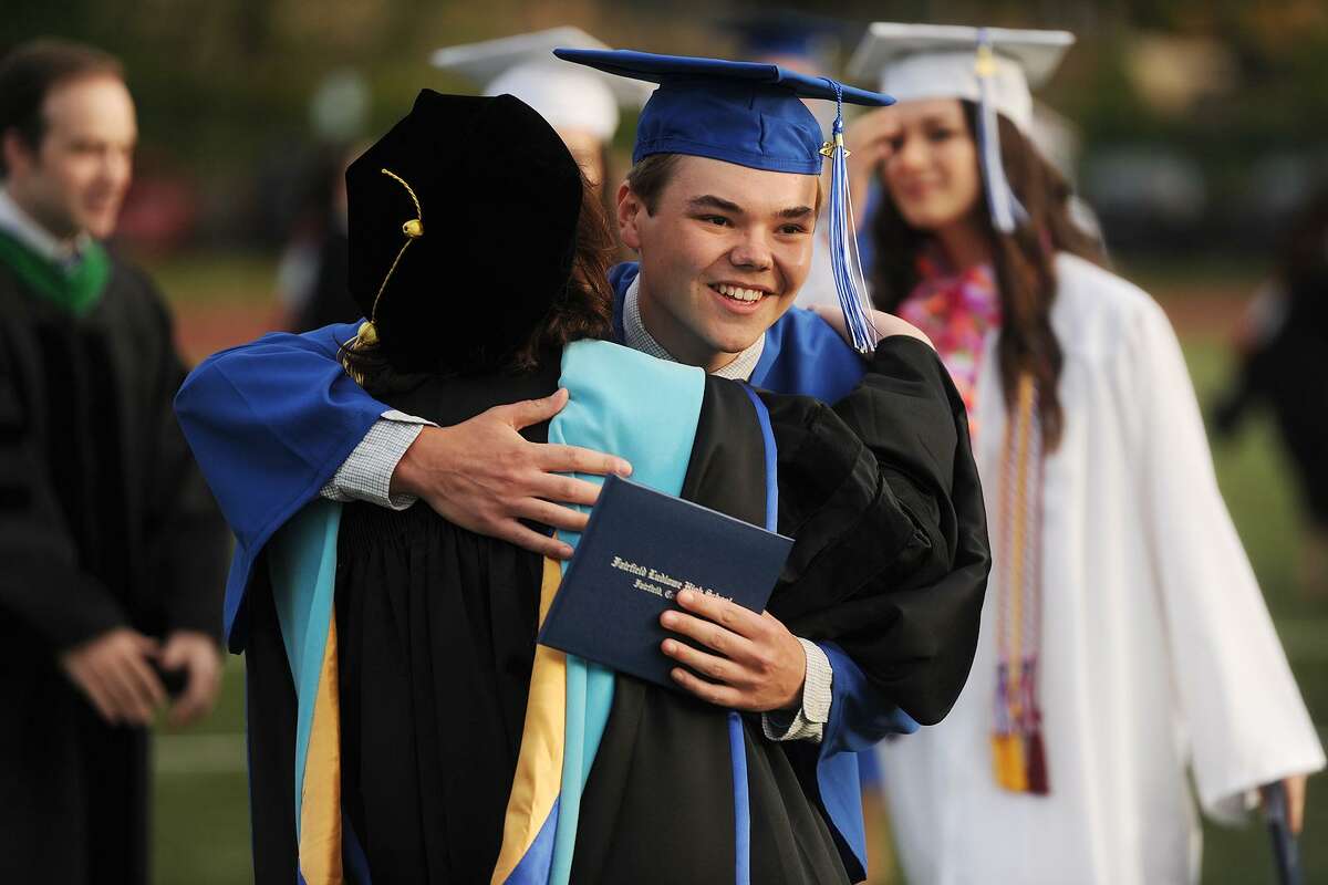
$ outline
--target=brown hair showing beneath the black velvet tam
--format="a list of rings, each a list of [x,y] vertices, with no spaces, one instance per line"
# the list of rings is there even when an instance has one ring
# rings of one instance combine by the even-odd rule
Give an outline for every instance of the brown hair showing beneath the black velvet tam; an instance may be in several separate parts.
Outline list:
[[[533,372],[542,357],[582,338],[614,337],[614,289],[608,268],[614,260],[614,236],[594,186],[582,175],[582,206],[576,218],[576,243],[567,285],[550,300],[548,310],[535,324],[530,337],[505,360],[502,370]],[[471,293],[471,297],[483,297]],[[386,346],[390,346],[386,345]],[[428,373],[401,373],[392,366],[386,346],[378,341],[369,346],[340,350],[341,364],[361,378],[361,386],[373,395],[410,389],[425,381]]]

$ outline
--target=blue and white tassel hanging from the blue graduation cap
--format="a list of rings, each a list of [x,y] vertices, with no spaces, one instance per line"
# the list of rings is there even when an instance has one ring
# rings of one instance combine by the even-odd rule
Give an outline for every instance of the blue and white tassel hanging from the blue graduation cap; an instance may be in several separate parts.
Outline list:
[[[876,349],[876,326],[867,303],[867,281],[862,275],[858,238],[853,223],[853,198],[849,195],[849,149],[843,145],[843,88],[827,80],[835,92],[834,141],[821,153],[830,158],[830,269],[839,296],[849,337],[858,353]]]

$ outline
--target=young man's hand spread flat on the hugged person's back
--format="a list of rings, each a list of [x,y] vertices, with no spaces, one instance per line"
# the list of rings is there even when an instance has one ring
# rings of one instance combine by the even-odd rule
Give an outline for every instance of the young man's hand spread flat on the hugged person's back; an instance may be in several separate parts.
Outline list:
[[[425,427],[397,464],[392,494],[416,495],[473,532],[554,559],[570,557],[571,547],[519,520],[579,532],[588,515],[562,504],[588,507],[599,498],[599,486],[556,474],[627,476],[632,467],[590,448],[522,438],[522,427],[556,415],[567,395],[559,390],[543,399],[494,406],[453,427]]]

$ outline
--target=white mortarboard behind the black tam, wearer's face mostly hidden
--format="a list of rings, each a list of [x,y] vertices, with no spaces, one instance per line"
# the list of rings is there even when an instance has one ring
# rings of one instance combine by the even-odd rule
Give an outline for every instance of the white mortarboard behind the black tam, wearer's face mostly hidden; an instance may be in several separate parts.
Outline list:
[[[618,130],[619,106],[640,107],[651,86],[559,61],[554,57],[558,46],[608,48],[580,28],[564,27],[448,46],[430,61],[469,77],[486,96],[515,96],[554,129],[584,129],[610,141]]]

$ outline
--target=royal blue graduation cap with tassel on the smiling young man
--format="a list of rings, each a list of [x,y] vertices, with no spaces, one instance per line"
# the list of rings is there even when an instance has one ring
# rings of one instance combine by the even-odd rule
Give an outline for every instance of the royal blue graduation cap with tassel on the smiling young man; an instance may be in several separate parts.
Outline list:
[[[659,84],[636,125],[632,162],[653,154],[687,154],[770,172],[819,175],[826,157],[830,179],[830,265],[853,345],[876,346],[849,199],[843,102],[882,106],[890,96],[845,86],[778,65],[627,49],[555,49],[564,61]],[[801,100],[835,102],[826,141]]]

